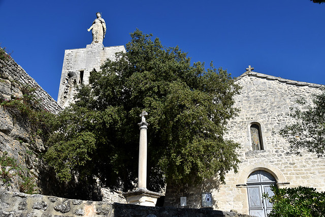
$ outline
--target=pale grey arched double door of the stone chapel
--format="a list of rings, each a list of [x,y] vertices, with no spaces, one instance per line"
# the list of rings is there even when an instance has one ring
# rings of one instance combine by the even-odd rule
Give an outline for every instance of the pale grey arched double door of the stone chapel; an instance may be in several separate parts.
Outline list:
[[[268,199],[263,199],[263,193],[273,196],[270,189],[271,184],[276,184],[275,178],[268,172],[257,170],[251,173],[247,178],[247,193],[249,214],[266,217],[272,210],[272,204]]]

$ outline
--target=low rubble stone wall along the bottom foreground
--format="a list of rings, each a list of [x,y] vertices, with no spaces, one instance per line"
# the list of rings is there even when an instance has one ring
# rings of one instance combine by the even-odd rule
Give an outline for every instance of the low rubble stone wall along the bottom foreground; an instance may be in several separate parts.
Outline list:
[[[44,195],[0,192],[0,216],[216,216],[248,217],[209,208],[147,207],[132,204],[70,200]]]

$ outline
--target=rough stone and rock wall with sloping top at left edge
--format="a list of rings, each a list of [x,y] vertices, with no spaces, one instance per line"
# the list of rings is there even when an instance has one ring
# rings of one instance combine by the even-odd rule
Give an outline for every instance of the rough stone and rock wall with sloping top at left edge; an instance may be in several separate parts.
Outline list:
[[[0,102],[22,98],[22,89],[26,86],[36,88],[34,94],[43,109],[52,113],[61,110],[56,101],[12,58],[0,61]],[[6,153],[8,158],[14,159],[17,166],[23,170],[20,171],[23,176],[32,178],[32,182],[38,185],[36,192],[49,193],[54,190],[50,186],[55,178],[45,172],[48,168],[39,158],[45,151],[42,137],[31,130],[31,123],[25,116],[14,113],[0,106],[0,157]],[[4,179],[7,172],[9,175]],[[0,189],[23,191],[24,180],[18,173],[17,168],[0,165]]]

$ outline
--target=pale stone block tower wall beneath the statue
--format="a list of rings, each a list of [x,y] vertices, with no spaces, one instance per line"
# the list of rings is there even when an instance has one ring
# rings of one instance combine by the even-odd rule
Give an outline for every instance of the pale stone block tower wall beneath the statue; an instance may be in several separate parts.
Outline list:
[[[123,45],[103,47],[101,43],[90,44],[86,48],[66,50],[57,97],[58,104],[64,108],[74,102],[75,85],[88,84],[90,72],[93,69],[99,71],[107,59],[115,60],[115,53],[120,51],[125,52]]]

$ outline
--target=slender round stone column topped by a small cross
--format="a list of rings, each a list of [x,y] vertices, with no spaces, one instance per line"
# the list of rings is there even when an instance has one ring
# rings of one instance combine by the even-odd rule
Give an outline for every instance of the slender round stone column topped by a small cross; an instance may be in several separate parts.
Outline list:
[[[140,140],[139,140],[139,170],[138,170],[138,188],[147,189],[147,129],[145,115],[148,113],[143,111],[141,113],[142,121],[138,123],[140,126]]]

